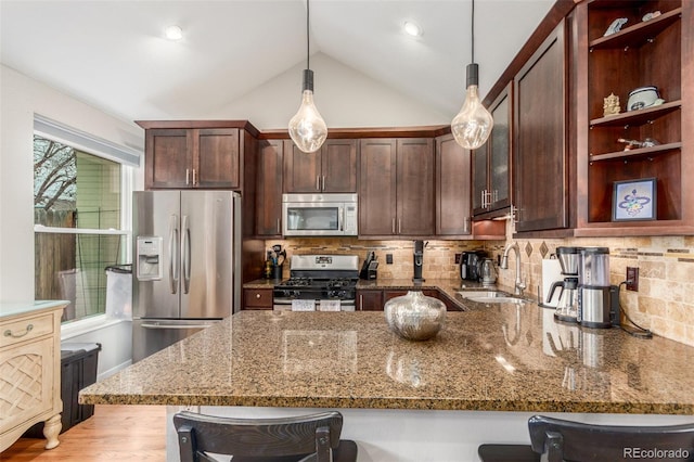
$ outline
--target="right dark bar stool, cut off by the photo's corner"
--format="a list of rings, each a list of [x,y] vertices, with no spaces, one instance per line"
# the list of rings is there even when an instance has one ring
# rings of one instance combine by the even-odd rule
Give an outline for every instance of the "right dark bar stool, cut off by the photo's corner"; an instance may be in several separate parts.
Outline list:
[[[481,445],[483,462],[620,460],[694,461],[694,423],[669,426],[593,425],[543,415],[528,420],[530,446]]]

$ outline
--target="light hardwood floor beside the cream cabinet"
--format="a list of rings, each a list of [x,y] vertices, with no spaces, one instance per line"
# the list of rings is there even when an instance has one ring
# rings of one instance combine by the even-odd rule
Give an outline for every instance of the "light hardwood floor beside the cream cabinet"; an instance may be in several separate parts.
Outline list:
[[[97,406],[94,414],[59,437],[46,450],[44,439],[20,438],[0,454],[2,462],[166,460],[166,407]]]

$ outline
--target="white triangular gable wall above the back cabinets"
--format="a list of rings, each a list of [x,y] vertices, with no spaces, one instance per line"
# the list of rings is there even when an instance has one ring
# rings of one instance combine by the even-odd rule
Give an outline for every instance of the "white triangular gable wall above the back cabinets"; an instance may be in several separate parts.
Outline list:
[[[280,74],[256,90],[210,114],[210,118],[247,119],[258,129],[286,128],[299,108],[305,65]],[[453,115],[432,111],[390,87],[332,57],[311,56],[314,102],[327,129],[448,125]],[[463,103],[463,89],[461,100]]]

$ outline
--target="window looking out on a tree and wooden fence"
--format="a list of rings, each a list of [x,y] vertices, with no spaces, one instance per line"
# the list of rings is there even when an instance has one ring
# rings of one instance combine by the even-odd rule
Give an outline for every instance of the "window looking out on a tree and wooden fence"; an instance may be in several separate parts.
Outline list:
[[[106,269],[130,260],[132,169],[104,143],[35,118],[35,296],[69,300],[63,322],[105,313]]]

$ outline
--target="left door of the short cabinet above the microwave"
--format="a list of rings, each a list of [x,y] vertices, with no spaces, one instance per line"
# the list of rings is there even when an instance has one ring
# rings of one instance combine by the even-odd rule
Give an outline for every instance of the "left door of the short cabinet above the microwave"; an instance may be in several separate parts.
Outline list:
[[[321,152],[305,153],[292,141],[284,144],[284,192],[320,191]]]

